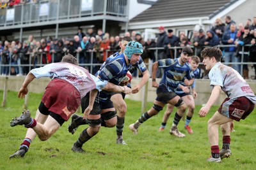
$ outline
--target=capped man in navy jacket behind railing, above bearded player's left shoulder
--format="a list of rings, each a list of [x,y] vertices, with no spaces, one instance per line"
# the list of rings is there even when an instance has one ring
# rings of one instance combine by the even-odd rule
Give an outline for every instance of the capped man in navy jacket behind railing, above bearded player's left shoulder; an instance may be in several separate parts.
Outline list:
[[[175,50],[170,49],[172,46],[175,46],[179,42],[179,38],[173,34],[172,29],[168,29],[168,34],[164,38],[164,49],[166,52],[166,58],[174,59]]]

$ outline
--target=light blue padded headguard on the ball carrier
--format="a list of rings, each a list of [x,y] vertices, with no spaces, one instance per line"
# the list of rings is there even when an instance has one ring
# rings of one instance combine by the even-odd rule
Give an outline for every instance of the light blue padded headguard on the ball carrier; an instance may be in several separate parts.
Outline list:
[[[143,46],[136,41],[131,41],[125,46],[124,53],[131,60],[132,54],[143,53]]]

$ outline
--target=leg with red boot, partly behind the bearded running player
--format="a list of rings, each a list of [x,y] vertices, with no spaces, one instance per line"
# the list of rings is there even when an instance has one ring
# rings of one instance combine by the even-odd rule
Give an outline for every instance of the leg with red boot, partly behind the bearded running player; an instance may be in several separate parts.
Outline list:
[[[186,116],[186,123],[185,123],[185,129],[188,131],[189,134],[193,134],[193,131],[191,127],[189,126],[189,123],[191,122],[191,118],[193,117],[194,110],[195,110],[195,101],[191,94],[182,96],[182,100],[187,104],[188,111]]]

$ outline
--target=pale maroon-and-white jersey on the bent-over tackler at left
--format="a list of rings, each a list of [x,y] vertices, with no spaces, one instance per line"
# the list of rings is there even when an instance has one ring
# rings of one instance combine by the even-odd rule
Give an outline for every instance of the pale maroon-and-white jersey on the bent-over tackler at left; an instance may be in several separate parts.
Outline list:
[[[81,98],[93,89],[100,91],[108,83],[108,81],[99,80],[99,78],[90,74],[84,67],[67,62],[47,64],[44,67],[32,69],[31,73],[36,78],[52,77],[52,79],[60,78],[61,80],[66,80],[76,87]]]

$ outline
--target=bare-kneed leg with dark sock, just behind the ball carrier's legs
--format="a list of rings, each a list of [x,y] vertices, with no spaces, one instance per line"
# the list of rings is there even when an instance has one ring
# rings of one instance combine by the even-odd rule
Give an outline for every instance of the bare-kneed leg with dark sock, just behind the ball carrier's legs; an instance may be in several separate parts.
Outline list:
[[[124,97],[121,93],[116,93],[111,96],[111,101],[114,104],[117,112],[117,122],[116,122],[116,143],[127,145],[123,138],[123,129],[125,122],[125,113],[127,111],[127,106],[124,101]]]

